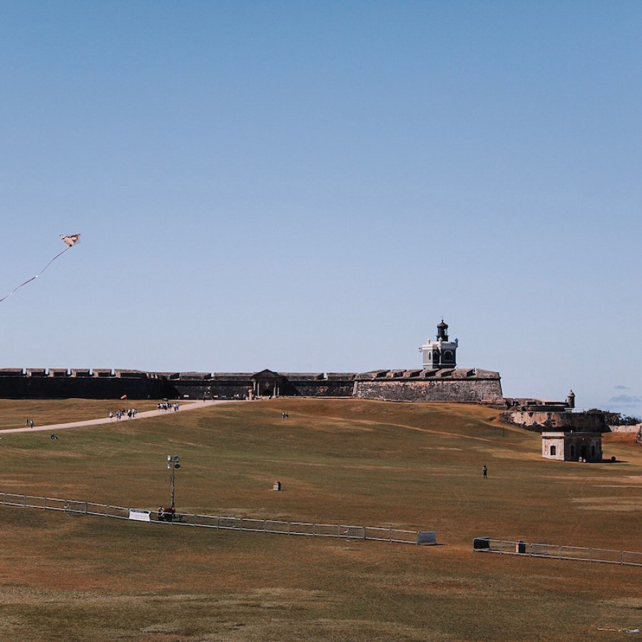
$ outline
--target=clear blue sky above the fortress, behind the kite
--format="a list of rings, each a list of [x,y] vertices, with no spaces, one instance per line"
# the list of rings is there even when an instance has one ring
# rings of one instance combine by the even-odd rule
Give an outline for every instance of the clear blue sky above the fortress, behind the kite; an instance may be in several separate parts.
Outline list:
[[[0,2],[2,367],[458,365],[642,413],[642,3]]]

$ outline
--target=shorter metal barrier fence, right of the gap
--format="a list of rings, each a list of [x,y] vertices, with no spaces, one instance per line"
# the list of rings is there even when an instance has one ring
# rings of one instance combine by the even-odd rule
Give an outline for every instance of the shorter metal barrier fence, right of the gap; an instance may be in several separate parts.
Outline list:
[[[611,551],[593,549],[584,546],[559,546],[558,544],[529,544],[525,541],[490,539],[476,537],[473,550],[477,553],[499,553],[504,555],[521,555],[545,557],[548,559],[576,559],[604,564],[621,564],[623,566],[642,566],[642,553],[634,551]]]

